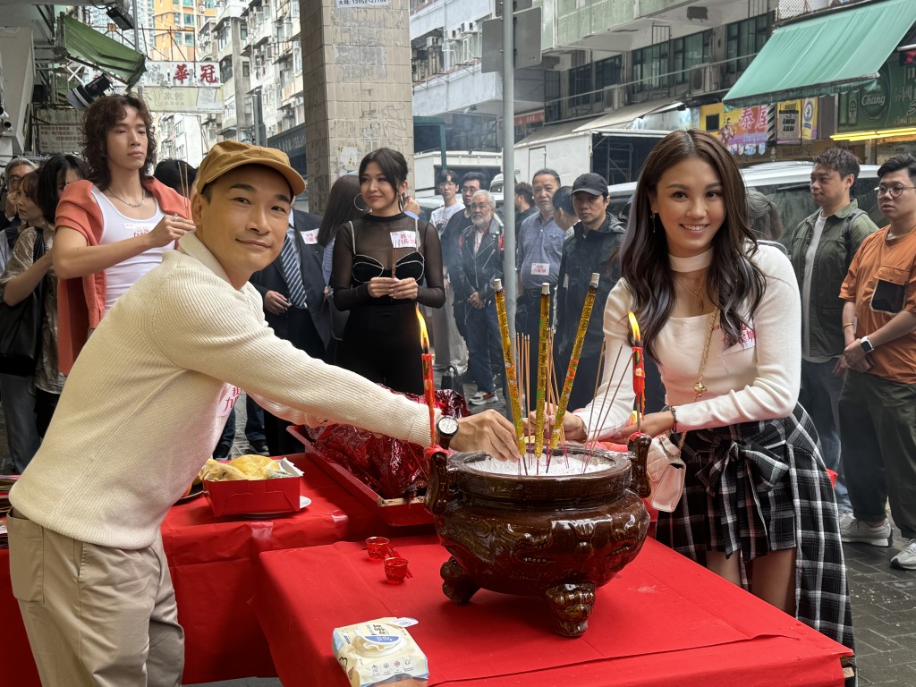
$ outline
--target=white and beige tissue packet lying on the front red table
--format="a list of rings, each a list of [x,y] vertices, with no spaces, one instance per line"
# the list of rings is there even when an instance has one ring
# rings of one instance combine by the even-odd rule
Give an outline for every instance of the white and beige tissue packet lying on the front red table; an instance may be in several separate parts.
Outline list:
[[[425,687],[430,671],[426,656],[394,617],[335,627],[334,658],[352,687],[402,685]]]

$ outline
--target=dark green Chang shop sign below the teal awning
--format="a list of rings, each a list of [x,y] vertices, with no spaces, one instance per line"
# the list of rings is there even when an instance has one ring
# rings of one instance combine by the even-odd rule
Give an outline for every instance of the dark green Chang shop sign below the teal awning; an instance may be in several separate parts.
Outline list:
[[[916,126],[916,63],[902,55],[884,63],[871,88],[840,93],[839,133]]]

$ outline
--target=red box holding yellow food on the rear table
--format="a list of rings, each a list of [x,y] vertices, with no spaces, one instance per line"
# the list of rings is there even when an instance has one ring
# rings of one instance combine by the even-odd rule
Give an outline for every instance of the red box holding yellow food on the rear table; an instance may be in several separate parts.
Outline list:
[[[300,510],[301,477],[276,479],[205,480],[203,491],[216,517],[244,515],[267,518]]]

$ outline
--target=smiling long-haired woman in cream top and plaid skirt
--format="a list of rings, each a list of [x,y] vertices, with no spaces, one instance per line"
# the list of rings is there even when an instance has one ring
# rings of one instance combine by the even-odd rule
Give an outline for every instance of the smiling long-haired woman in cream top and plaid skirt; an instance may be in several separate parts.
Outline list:
[[[605,305],[604,384],[566,416],[566,437],[626,442],[636,431],[628,371],[607,419],[599,412],[620,378],[609,379],[617,350],[621,361],[631,352],[634,311],[668,403],[642,431],[669,435],[685,463],[658,539],[851,648],[834,493],[797,402],[798,288],[786,256],[756,244],[741,175],[713,136],[675,131],[652,150],[620,262]]]

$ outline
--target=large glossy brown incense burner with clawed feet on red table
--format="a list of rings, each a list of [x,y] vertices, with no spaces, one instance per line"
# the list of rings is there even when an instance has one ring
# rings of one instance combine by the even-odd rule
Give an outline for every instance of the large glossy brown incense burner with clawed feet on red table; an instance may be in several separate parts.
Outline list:
[[[638,453],[641,483],[646,454]],[[548,471],[543,458],[526,467],[487,453],[433,453],[426,502],[452,554],[442,591],[457,604],[478,589],[541,596],[556,631],[581,636],[595,590],[636,558],[649,530],[630,489],[630,457],[567,444]]]

